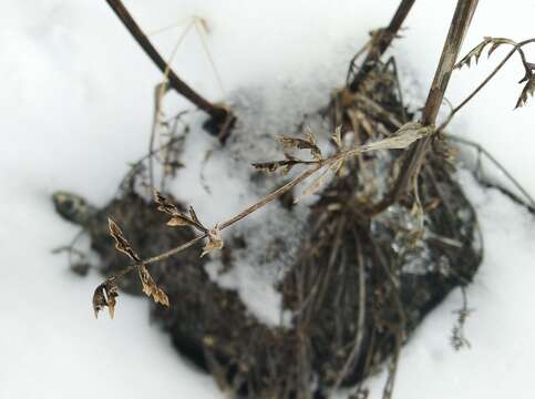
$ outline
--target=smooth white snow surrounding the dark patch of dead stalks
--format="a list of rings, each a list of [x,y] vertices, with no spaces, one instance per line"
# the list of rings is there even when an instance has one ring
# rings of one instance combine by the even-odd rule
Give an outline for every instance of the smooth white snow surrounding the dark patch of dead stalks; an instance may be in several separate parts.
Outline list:
[[[397,6],[393,0],[125,3],[147,31],[184,25],[192,16],[206,19],[226,93],[258,82],[264,90],[295,88],[316,78],[323,88],[339,85],[368,30],[385,24]],[[420,88],[410,89],[425,92],[453,8],[454,1],[414,6],[405,39],[394,49],[398,62],[418,78]],[[484,35],[527,39],[534,13],[532,0],[512,7],[481,2],[465,50]],[[104,204],[126,163],[144,154],[157,71],[104,1],[4,0],[0,16],[0,398],[219,398],[212,379],[179,359],[167,337],[148,325],[143,300],[122,297],[116,320],[95,321],[90,296],[99,277],[76,278],[64,258],[50,254],[75,233],[53,213],[50,194],[70,190]],[[178,31],[156,37],[164,53]],[[220,100],[200,49],[188,37],[174,66]],[[457,103],[495,62],[455,73],[447,98]],[[506,66],[452,131],[482,143],[535,193],[535,103],[512,111],[521,78],[518,64]],[[328,92],[318,95],[327,99]],[[452,310],[461,303],[454,293],[404,348],[397,397],[533,398],[535,221],[501,194],[462,178],[480,212],[486,249],[469,289],[475,308],[466,326],[472,349],[455,352],[449,344]],[[210,217],[224,218],[240,206],[224,205],[220,216],[212,209]],[[381,383],[381,376],[370,381],[373,397]]]

